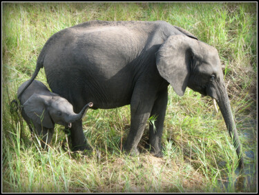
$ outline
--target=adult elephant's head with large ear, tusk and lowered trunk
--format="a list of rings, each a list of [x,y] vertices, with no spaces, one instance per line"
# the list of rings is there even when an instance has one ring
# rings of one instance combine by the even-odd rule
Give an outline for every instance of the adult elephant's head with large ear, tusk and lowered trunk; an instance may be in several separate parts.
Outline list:
[[[224,121],[233,137],[233,145],[243,166],[240,141],[233,121],[229,97],[224,85],[218,51],[196,39],[185,35],[173,35],[166,39],[156,53],[157,69],[173,90],[182,96],[188,86],[204,96],[217,101]]]

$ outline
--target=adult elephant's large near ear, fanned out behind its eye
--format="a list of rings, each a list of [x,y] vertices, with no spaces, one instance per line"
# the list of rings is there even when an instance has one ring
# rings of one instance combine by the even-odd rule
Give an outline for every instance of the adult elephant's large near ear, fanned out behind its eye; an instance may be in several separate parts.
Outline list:
[[[193,41],[197,40],[184,34],[172,35],[155,53],[157,70],[179,96],[184,95],[189,80]]]

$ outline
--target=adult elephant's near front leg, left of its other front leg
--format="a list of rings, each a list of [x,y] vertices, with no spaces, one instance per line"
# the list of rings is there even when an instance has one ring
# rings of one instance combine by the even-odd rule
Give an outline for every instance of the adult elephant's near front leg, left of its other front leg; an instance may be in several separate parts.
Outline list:
[[[144,94],[143,91],[133,93],[131,99],[131,129],[128,132],[126,143],[124,143],[124,150],[131,155],[139,154],[137,144],[142,138],[152,105],[153,98]]]

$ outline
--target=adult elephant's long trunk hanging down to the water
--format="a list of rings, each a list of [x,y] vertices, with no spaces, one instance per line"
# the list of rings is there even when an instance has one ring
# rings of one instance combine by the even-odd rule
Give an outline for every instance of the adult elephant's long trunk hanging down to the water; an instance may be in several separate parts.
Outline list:
[[[217,100],[218,106],[220,107],[220,111],[224,118],[224,121],[227,126],[227,130],[229,130],[229,135],[233,140],[233,145],[236,148],[236,153],[238,154],[238,167],[244,167],[243,157],[240,151],[240,140],[238,138],[238,132],[236,130],[236,124],[233,119],[233,114],[231,112],[231,107],[229,103],[229,96],[227,95],[227,90],[224,87],[224,84],[220,87],[220,96]]]

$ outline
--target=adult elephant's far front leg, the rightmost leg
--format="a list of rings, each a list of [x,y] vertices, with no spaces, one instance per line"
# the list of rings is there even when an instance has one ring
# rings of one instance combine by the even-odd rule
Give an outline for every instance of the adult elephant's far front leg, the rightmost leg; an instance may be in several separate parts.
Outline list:
[[[149,125],[149,144],[151,146],[151,153],[154,156],[162,157],[161,138],[164,126],[164,116],[166,114],[166,106],[168,100],[167,89],[160,92],[153,105],[151,116],[154,116],[155,127],[153,123]]]

